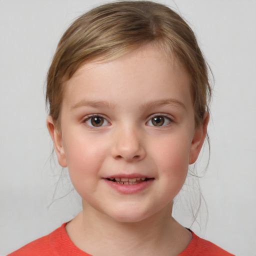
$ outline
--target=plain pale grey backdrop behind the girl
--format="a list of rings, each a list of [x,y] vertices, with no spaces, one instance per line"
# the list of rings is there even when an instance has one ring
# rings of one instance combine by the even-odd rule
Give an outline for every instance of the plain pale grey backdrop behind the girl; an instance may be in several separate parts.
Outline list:
[[[0,0],[0,256],[49,233],[80,209],[79,196],[68,193],[67,170],[51,157],[44,84],[61,34],[102,2]],[[256,1],[160,2],[190,23],[215,78],[210,161],[200,178],[208,222],[202,210],[203,223],[191,228],[235,255],[255,256]],[[204,151],[197,169],[204,168],[207,146]],[[174,214],[189,225],[184,211],[179,206]]]

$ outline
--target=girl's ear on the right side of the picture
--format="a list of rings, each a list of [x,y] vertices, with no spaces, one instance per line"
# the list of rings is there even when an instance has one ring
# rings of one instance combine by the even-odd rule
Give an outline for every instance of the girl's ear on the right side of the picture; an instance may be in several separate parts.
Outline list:
[[[207,111],[204,112],[203,117],[202,117],[202,124],[198,125],[195,128],[193,139],[190,145],[190,151],[189,151],[189,164],[192,164],[196,161],[204,138],[207,133],[207,125],[209,122],[209,113]]]

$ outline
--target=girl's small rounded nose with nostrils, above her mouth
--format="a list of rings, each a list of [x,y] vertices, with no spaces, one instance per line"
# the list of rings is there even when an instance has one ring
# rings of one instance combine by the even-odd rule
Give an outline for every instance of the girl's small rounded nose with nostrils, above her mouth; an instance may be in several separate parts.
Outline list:
[[[125,161],[139,161],[145,155],[145,149],[142,146],[142,134],[134,129],[120,129],[114,134],[114,144],[111,154],[115,159],[124,159]]]

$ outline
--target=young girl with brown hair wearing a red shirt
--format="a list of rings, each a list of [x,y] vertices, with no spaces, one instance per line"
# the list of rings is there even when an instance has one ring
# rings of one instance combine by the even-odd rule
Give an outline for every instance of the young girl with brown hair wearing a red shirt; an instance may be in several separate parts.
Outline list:
[[[231,255],[171,216],[209,96],[195,36],[168,7],[114,2],[76,19],[48,71],[47,128],[83,209],[9,255]]]

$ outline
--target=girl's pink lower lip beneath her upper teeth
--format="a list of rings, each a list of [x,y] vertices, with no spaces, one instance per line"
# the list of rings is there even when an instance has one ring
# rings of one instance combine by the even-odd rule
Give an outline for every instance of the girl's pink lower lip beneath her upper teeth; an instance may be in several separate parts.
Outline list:
[[[133,184],[133,185],[124,185],[124,184],[119,184],[117,182],[113,182],[111,180],[108,179],[104,179],[105,182],[112,187],[113,189],[115,189],[116,191],[123,193],[123,194],[133,194],[133,193],[138,193],[142,190],[144,190],[145,188],[147,188],[149,185],[152,184],[153,182],[153,178],[150,178],[146,181],[137,183],[137,184]]]

